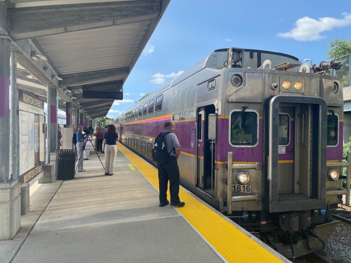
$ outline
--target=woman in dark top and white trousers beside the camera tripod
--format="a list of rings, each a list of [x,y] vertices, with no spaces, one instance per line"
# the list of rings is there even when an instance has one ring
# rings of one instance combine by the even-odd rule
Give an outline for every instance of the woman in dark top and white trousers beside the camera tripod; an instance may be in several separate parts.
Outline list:
[[[115,162],[117,154],[118,133],[116,127],[111,124],[107,127],[104,136],[105,149],[105,175],[113,175],[115,171]]]

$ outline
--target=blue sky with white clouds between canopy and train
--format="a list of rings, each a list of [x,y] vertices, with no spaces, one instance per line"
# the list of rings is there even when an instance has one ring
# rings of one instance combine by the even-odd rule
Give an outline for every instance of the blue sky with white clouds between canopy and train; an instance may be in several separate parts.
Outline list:
[[[351,39],[350,0],[171,0],[123,86],[124,100],[107,116],[116,118],[215,49],[269,50],[318,64],[337,38]]]

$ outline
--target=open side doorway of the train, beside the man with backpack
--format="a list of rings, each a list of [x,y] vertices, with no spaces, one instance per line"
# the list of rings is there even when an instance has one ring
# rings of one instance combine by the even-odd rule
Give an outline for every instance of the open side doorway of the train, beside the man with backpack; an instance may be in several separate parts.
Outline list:
[[[196,127],[196,186],[210,195],[214,194],[215,189],[215,143],[209,138],[209,115],[215,112],[214,105],[199,108]]]

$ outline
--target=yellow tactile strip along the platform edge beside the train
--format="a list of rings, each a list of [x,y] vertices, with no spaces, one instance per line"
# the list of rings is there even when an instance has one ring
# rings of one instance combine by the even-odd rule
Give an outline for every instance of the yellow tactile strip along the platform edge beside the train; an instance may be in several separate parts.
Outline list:
[[[118,148],[133,163],[136,169],[156,189],[159,189],[157,170],[121,143],[118,143]],[[170,196],[169,192],[168,196]],[[177,208],[177,211],[225,261],[235,263],[283,262],[181,188],[179,190],[179,198],[185,202],[185,206]]]

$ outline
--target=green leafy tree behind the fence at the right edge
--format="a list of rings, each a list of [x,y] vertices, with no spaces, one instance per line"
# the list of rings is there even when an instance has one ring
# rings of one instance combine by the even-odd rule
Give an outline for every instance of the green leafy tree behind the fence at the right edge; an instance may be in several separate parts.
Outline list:
[[[343,86],[350,86],[350,56],[346,56],[351,54],[351,39],[346,41],[342,39],[336,39],[328,44],[328,47],[331,47],[327,52],[329,59],[340,58],[339,60],[343,63],[341,69],[336,71],[336,75],[338,77],[343,78]]]

